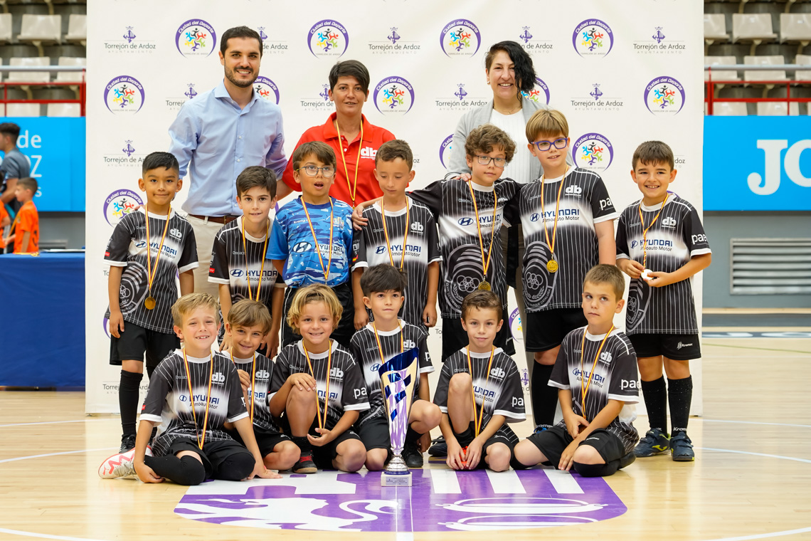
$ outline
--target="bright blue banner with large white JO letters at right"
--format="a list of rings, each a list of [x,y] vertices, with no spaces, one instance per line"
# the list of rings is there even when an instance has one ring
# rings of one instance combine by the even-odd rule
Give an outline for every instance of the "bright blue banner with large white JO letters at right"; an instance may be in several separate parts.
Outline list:
[[[704,210],[811,210],[811,117],[704,118]]]

